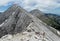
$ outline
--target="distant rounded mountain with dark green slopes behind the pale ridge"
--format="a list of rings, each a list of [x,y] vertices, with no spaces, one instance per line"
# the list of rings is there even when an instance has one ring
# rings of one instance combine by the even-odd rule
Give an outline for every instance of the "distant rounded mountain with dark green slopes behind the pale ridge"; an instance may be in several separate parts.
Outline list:
[[[46,14],[37,9],[32,10],[30,13],[41,19],[47,25],[52,26],[57,30],[60,30],[60,16],[55,14]]]

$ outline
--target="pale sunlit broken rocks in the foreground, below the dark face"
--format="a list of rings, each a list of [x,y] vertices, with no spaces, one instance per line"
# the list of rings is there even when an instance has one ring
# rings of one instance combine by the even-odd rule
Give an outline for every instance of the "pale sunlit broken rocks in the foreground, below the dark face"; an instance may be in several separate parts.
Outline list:
[[[36,29],[36,24],[31,23],[25,31],[17,33],[16,35],[5,35],[0,41],[49,41],[45,32],[38,30],[38,28]]]

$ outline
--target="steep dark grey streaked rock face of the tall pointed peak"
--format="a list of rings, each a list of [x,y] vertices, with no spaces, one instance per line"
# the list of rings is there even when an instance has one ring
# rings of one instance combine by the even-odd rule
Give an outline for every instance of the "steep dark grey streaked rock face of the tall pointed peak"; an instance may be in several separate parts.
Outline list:
[[[6,17],[9,16],[8,19],[6,19],[0,25],[0,37],[6,34],[15,34],[18,32],[22,32],[22,30],[32,22],[32,19],[27,15],[27,12],[25,12],[25,10],[23,10],[19,6],[14,5],[13,7],[11,7],[11,9],[8,10],[8,13],[5,12],[5,14],[11,15],[7,15]]]

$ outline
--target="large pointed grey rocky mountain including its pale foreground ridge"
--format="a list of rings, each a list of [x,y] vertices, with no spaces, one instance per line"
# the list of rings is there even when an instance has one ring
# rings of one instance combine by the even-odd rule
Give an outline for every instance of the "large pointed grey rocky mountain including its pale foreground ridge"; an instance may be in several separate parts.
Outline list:
[[[40,18],[44,20],[45,16],[42,16]],[[11,6],[0,17],[0,22],[3,20],[0,24],[0,41],[60,41],[58,30],[19,5]]]

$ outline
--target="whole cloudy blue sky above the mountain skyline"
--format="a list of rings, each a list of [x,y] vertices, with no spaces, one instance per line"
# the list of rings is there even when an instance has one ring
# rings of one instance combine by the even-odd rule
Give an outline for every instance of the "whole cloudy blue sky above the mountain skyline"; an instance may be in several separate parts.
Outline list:
[[[12,4],[19,4],[27,11],[39,9],[43,12],[60,15],[60,0],[0,0],[0,12],[4,12]]]

